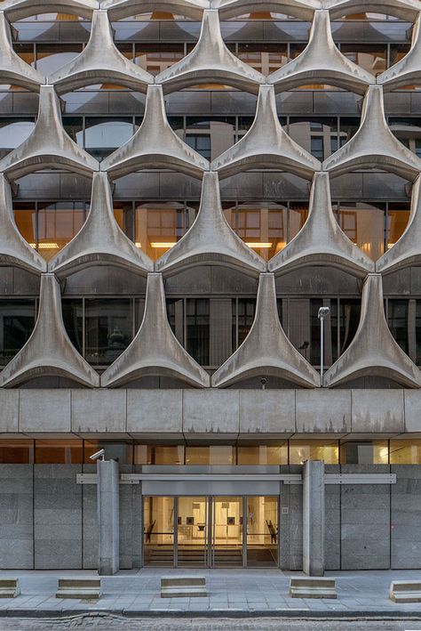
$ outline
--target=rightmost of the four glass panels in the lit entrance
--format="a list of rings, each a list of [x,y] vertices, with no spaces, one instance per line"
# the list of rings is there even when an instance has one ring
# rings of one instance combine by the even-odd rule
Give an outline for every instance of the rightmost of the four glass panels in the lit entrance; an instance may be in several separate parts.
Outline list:
[[[247,499],[247,566],[278,564],[278,498]]]

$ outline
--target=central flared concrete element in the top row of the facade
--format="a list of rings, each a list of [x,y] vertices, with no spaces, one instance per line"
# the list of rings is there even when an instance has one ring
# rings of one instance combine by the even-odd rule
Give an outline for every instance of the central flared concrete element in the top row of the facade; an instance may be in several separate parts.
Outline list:
[[[184,59],[155,77],[164,93],[189,85],[220,83],[245,92],[258,93],[265,77],[228,50],[222,38],[218,11],[204,11],[201,33],[195,48]]]

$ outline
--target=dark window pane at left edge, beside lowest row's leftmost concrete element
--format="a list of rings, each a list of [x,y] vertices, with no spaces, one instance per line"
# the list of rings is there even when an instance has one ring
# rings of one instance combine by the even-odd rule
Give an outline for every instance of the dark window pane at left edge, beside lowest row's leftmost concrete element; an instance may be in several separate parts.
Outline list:
[[[35,300],[0,300],[0,364],[4,366],[28,342],[36,318]]]

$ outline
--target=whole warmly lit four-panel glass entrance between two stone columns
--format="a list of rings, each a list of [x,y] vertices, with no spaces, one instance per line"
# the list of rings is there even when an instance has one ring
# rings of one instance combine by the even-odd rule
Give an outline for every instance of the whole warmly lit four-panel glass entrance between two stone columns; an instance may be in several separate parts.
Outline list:
[[[278,565],[276,496],[149,496],[143,508],[145,565]]]

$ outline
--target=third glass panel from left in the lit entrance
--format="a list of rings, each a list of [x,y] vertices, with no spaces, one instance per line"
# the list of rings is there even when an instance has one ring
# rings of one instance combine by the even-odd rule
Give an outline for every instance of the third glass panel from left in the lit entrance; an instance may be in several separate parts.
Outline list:
[[[242,501],[239,497],[212,499],[211,565],[243,565]]]

